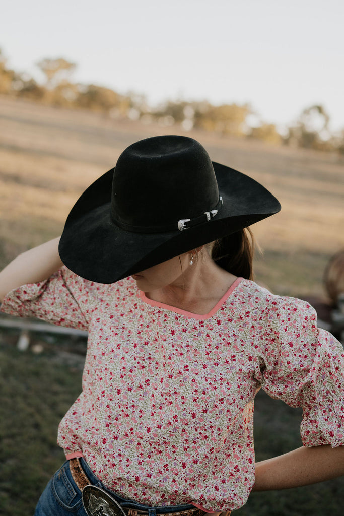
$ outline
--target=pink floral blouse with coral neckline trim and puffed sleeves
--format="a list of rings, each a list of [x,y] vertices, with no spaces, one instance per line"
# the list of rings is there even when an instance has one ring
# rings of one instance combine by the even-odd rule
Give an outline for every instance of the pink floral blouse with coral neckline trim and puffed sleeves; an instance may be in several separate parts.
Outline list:
[[[123,497],[241,507],[255,480],[260,387],[303,408],[305,446],[344,445],[343,349],[299,299],[238,278],[195,315],[151,301],[132,278],[100,284],[62,267],[1,309],[89,331],[83,389],[58,443]]]

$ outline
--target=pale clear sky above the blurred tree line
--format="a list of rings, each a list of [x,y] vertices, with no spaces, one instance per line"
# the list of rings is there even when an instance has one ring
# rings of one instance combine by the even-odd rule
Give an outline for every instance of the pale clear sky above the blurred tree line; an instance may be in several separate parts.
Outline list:
[[[249,103],[283,130],[321,104],[344,128],[342,0],[2,0],[7,65],[43,80],[35,63],[63,57],[72,82],[149,103]]]

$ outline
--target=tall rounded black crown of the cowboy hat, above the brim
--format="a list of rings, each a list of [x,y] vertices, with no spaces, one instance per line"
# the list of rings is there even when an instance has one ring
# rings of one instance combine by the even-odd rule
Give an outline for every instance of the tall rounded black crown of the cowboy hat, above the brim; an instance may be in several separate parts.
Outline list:
[[[210,157],[186,136],[156,136],[123,151],[114,169],[111,219],[133,228],[198,217],[219,201]]]

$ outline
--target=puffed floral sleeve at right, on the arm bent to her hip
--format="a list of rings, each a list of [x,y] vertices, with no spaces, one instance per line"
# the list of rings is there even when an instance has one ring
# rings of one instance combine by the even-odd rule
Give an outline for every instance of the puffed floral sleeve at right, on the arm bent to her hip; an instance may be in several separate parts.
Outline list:
[[[344,354],[329,332],[317,328],[304,301],[275,297],[269,330],[259,336],[256,379],[273,398],[302,407],[304,446],[344,445]]]

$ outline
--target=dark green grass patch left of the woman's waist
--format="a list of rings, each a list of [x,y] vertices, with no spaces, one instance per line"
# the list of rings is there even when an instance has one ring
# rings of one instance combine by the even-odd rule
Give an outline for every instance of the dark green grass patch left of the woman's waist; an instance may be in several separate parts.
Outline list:
[[[57,427],[80,393],[81,370],[13,346],[0,348],[0,364],[0,514],[24,516],[64,461]]]

